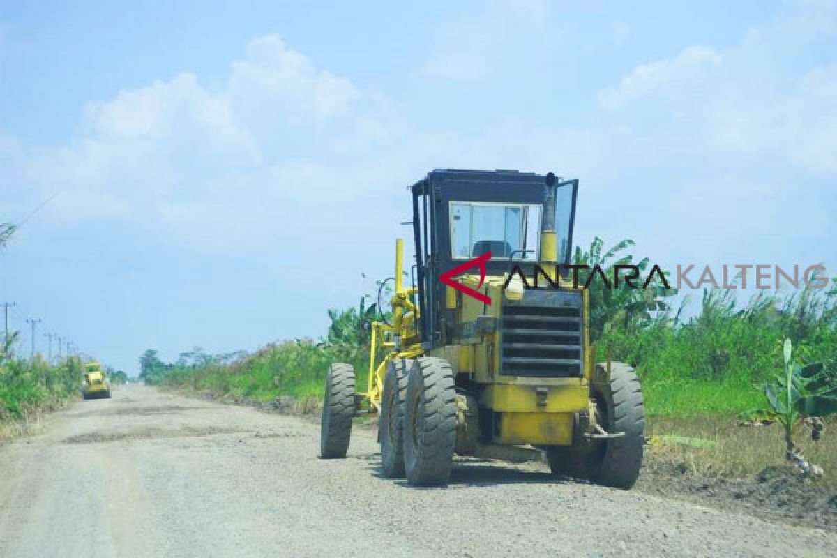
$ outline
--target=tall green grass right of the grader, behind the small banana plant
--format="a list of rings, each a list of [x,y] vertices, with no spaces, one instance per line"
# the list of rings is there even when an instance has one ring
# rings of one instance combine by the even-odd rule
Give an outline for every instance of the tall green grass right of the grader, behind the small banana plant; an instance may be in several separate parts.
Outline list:
[[[758,294],[739,307],[731,291],[707,290],[685,323],[661,313],[650,324],[608,330],[599,347],[634,366],[650,414],[693,416],[760,407],[759,392],[782,366],[782,340],[802,361],[837,366],[834,295],[804,289]]]

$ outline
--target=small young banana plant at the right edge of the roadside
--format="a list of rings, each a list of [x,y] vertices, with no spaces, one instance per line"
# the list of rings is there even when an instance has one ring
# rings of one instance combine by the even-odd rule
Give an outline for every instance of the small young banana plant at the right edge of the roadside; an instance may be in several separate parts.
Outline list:
[[[793,362],[793,343],[785,339],[782,347],[784,370],[773,375],[773,381],[764,385],[768,408],[757,409],[776,418],[784,428],[787,448],[785,457],[804,474],[819,476],[822,468],[808,463],[793,442],[793,429],[799,422],[812,425],[814,440],[822,435],[822,418],[837,413],[837,374],[826,370],[822,362],[798,366]]]

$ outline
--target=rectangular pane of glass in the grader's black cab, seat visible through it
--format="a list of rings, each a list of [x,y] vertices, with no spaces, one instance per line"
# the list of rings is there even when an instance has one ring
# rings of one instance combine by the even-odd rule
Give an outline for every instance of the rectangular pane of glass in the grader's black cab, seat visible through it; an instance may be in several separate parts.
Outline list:
[[[537,261],[541,206],[526,203],[450,202],[450,253],[470,259]]]

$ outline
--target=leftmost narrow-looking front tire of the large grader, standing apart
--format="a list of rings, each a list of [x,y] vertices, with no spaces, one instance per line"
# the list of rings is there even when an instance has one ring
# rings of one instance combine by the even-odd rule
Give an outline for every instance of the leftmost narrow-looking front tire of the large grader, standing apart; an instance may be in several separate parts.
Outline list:
[[[337,362],[328,368],[322,402],[321,458],[345,458],[355,416],[355,369]]]

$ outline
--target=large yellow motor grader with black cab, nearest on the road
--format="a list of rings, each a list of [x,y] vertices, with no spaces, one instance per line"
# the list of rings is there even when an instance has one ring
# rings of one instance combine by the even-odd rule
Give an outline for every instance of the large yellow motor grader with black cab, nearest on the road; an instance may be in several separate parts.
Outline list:
[[[436,170],[410,187],[415,263],[404,269],[396,240],[392,313],[371,325],[367,391],[356,393],[352,366],[329,368],[323,458],[345,457],[352,417],[370,412],[382,473],[411,484],[447,484],[454,453],[540,448],[553,474],[634,485],[639,380],[595,361],[588,293],[562,275],[577,190],[578,180],[517,171]]]

